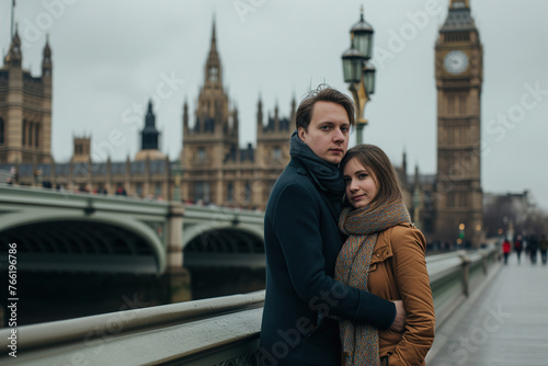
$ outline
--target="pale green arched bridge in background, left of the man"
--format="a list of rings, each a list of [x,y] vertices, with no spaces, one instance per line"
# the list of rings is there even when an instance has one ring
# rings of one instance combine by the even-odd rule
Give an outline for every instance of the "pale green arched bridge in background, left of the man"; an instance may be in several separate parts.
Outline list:
[[[262,213],[0,185],[0,248],[19,271],[163,276],[185,267],[264,267]]]

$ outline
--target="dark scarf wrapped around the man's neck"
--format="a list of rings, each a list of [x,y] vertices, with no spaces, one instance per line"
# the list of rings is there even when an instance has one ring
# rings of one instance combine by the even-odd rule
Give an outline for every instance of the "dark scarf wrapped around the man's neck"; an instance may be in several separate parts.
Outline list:
[[[300,161],[318,190],[329,197],[330,204],[336,213],[336,219],[342,208],[342,196],[346,188],[339,167],[313,153],[299,138],[297,130],[292,135],[289,155],[293,159]]]

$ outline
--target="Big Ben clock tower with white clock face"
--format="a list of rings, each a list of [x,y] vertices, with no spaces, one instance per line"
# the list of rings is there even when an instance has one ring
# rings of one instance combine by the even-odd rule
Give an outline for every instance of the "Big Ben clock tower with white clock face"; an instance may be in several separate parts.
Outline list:
[[[435,48],[435,239],[479,245],[482,232],[480,96],[483,49],[469,0],[450,0]]]

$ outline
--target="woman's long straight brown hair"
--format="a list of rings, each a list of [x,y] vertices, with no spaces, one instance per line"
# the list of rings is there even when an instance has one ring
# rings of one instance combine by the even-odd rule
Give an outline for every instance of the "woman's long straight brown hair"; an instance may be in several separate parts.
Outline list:
[[[377,184],[377,195],[369,204],[368,211],[384,203],[403,201],[400,180],[385,151],[375,145],[357,145],[344,156],[341,161],[341,170],[344,170],[346,163],[354,158],[370,170]]]

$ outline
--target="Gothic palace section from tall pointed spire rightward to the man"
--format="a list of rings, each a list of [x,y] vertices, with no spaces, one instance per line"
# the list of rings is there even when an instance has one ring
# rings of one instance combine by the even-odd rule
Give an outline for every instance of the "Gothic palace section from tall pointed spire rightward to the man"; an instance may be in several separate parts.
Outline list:
[[[274,116],[264,125],[259,100],[256,148],[251,144],[240,148],[238,110],[230,107],[222,85],[214,24],[193,126],[187,103],[183,107],[182,197],[221,206],[264,208],[272,185],[289,161],[295,100],[292,111],[290,118],[282,118],[276,106]]]

